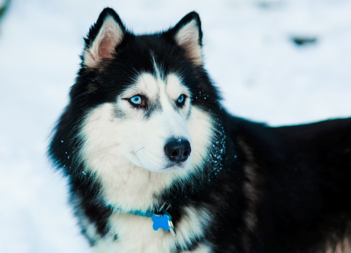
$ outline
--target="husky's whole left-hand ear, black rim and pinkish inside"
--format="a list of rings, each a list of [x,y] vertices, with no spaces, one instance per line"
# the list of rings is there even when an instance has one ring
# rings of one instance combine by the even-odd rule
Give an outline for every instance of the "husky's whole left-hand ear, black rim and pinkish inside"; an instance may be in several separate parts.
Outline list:
[[[94,67],[101,59],[111,58],[116,46],[123,40],[125,32],[126,28],[117,13],[111,8],[105,8],[84,39],[82,64]]]

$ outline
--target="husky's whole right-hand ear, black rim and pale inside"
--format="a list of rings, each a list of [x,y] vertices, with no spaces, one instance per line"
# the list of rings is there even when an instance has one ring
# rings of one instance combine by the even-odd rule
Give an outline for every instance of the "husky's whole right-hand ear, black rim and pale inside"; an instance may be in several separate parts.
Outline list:
[[[170,31],[176,44],[185,49],[186,55],[196,66],[203,64],[202,31],[199,14],[190,12]]]

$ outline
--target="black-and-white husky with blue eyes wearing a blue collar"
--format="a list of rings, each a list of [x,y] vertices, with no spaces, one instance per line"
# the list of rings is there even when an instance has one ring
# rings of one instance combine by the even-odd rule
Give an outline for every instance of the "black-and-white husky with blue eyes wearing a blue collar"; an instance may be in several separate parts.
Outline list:
[[[199,15],[90,28],[48,154],[100,253],[350,253],[351,119],[269,127],[226,112]]]

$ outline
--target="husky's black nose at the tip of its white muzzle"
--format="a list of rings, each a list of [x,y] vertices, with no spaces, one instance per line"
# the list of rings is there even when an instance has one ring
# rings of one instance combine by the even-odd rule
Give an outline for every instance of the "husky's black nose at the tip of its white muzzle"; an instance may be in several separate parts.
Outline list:
[[[191,152],[187,140],[172,140],[165,145],[165,153],[173,162],[183,162],[188,159]]]

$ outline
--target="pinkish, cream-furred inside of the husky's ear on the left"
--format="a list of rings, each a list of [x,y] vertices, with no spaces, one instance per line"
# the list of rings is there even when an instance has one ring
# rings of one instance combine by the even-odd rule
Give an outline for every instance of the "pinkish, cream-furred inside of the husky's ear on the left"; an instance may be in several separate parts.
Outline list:
[[[123,39],[123,31],[112,16],[107,16],[90,48],[84,52],[84,65],[93,67],[102,58],[111,57]]]

